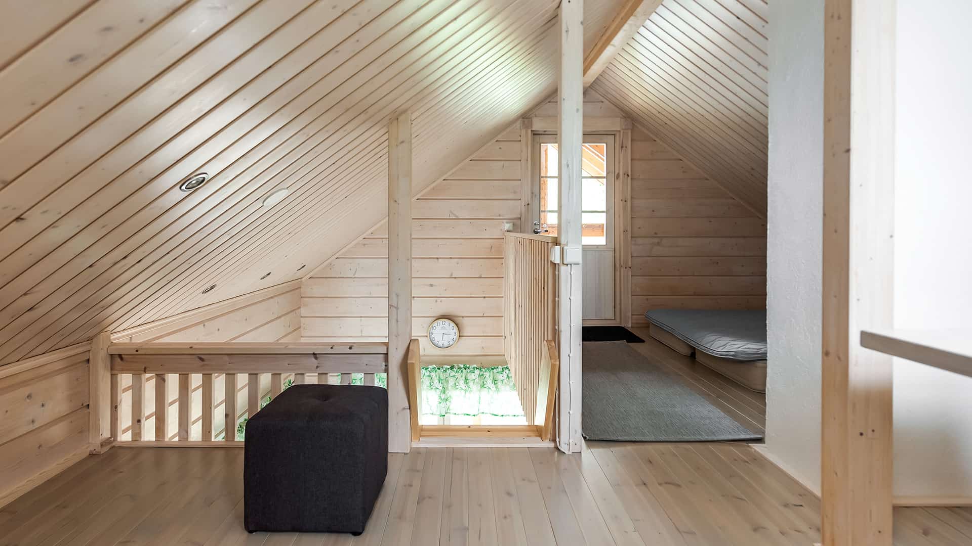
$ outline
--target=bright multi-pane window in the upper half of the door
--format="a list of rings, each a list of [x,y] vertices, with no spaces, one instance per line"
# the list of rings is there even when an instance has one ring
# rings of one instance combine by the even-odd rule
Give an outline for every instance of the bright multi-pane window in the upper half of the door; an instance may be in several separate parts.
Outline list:
[[[581,154],[581,241],[585,246],[609,246],[612,243],[611,200],[613,199],[613,137],[584,135]],[[560,154],[556,137],[538,140],[539,221],[546,224],[550,235],[557,234]],[[536,172],[536,171],[535,171]]]

